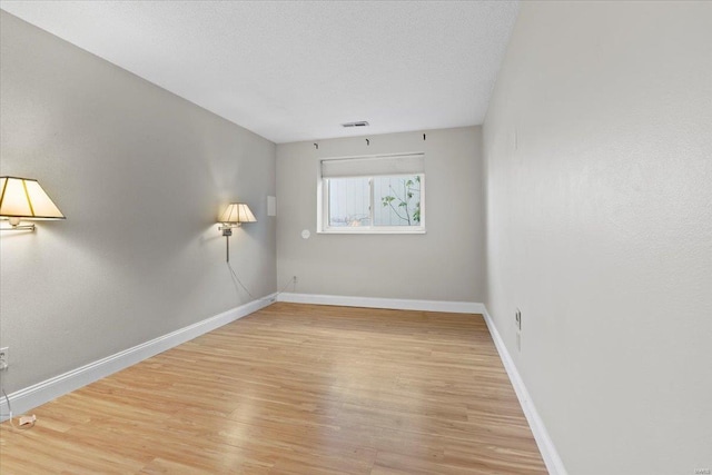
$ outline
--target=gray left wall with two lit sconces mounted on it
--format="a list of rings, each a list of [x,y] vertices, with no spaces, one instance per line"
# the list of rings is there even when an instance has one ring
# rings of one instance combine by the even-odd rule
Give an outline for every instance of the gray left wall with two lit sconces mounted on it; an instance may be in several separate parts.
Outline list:
[[[0,345],[13,392],[276,289],[275,145],[1,13],[0,171],[39,179],[67,216],[4,231]]]

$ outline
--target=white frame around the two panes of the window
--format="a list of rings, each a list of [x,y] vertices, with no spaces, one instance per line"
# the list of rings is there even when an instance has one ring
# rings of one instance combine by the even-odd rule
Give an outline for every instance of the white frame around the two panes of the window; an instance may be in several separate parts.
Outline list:
[[[388,156],[368,156],[368,157],[344,157],[343,159],[374,159],[379,157],[400,157],[400,156],[411,156],[411,155],[423,155],[423,154],[397,154],[397,155],[388,155]],[[337,160],[335,158],[325,159],[325,160]],[[370,204],[369,204],[369,215],[370,215],[370,226],[329,226],[329,185],[328,181],[332,178],[322,176],[322,164],[324,160],[319,160],[319,170],[318,170],[318,186],[317,186],[317,232],[318,234],[334,234],[334,235],[363,235],[363,234],[397,234],[397,235],[418,235],[425,234],[425,171],[419,172],[409,172],[397,171],[393,174],[365,174],[365,175],[349,175],[349,178],[368,178],[369,194],[370,194]],[[396,177],[396,176],[418,176],[421,177],[421,222],[417,226],[374,226],[374,208],[378,204],[374,202],[374,178],[375,177]],[[334,178],[346,178],[346,177],[334,177]]]

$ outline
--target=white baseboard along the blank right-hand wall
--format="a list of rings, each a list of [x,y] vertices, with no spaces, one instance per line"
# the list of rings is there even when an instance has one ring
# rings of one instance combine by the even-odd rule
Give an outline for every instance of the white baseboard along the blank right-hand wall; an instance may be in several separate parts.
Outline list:
[[[490,328],[490,334],[492,335],[492,339],[494,340],[494,345],[500,353],[500,358],[502,359],[502,364],[510,376],[510,382],[512,382],[512,386],[514,386],[514,392],[516,393],[517,399],[520,399],[520,405],[522,406],[522,410],[524,410],[524,416],[526,420],[530,423],[530,427],[532,428],[532,434],[534,435],[534,439],[536,441],[536,445],[538,446],[540,452],[542,453],[542,458],[544,459],[544,464],[546,464],[546,469],[550,475],[566,475],[566,468],[564,467],[564,463],[558,456],[558,452],[556,452],[556,447],[554,446],[554,442],[548,436],[548,432],[544,426],[544,422],[542,417],[538,415],[534,403],[532,402],[532,397],[530,396],[530,392],[526,389],[524,385],[524,380],[520,376],[520,372],[517,372],[516,366],[514,365],[514,360],[507,350],[507,347],[497,331],[497,327],[494,325],[492,317],[487,313],[487,309],[484,309],[483,313],[485,317],[485,323],[487,324],[487,328]]]

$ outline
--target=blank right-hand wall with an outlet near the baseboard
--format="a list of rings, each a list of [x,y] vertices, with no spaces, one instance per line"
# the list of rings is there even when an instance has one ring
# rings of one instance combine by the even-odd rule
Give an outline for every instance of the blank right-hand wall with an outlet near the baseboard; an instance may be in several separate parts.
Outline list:
[[[711,468],[712,3],[522,2],[484,154],[487,308],[568,472]]]

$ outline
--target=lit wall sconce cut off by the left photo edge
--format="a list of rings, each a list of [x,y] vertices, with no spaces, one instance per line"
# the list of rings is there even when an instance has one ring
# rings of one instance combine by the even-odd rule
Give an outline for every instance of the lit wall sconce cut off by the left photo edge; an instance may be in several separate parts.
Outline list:
[[[20,225],[21,219],[66,219],[37,180],[0,177],[0,219],[10,220],[2,230],[34,230],[34,224]]]

